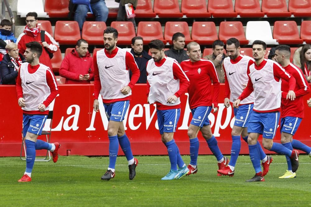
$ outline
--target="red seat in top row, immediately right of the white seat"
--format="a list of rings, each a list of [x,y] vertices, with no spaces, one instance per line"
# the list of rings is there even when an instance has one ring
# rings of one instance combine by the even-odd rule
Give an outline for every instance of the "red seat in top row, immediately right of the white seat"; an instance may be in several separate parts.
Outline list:
[[[68,17],[68,0],[45,0],[44,11],[48,13],[49,17]]]

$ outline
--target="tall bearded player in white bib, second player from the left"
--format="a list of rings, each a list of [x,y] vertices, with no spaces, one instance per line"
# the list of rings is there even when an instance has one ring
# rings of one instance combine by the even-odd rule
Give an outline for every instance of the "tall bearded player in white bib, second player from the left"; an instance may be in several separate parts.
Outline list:
[[[101,177],[102,180],[114,178],[115,163],[119,144],[128,160],[129,179],[136,175],[138,160],[133,157],[130,141],[125,134],[123,119],[131,99],[132,88],[137,82],[140,72],[134,56],[116,46],[118,31],[109,27],[104,31],[105,48],[97,51],[94,56],[94,110],[99,110],[99,95],[104,103],[105,112],[109,121],[109,167]],[[129,70],[132,71],[130,80]]]

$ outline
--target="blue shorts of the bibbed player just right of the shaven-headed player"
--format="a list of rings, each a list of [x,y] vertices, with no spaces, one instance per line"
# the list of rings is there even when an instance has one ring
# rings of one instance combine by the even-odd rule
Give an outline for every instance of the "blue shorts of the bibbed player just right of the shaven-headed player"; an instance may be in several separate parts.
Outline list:
[[[239,108],[234,108],[234,126],[238,127],[248,127],[248,122],[250,115],[252,114],[254,104],[245,104],[239,106]]]

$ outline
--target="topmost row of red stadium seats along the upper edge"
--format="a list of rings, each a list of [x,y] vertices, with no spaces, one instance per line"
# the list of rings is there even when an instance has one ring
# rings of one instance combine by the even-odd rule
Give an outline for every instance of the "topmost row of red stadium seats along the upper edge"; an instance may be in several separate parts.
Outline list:
[[[45,0],[44,11],[50,17],[67,17],[68,0]],[[152,8],[151,0],[139,0],[135,10],[138,18],[181,18],[183,15],[190,18],[208,17],[306,17],[311,16],[311,1],[289,0],[262,0],[262,7],[258,0],[182,0],[181,11],[178,0],[156,0]],[[116,14],[109,14],[115,17]]]

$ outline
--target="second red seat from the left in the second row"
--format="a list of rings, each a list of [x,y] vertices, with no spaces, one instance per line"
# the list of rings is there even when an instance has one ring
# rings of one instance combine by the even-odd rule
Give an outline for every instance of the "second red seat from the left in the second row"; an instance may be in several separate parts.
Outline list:
[[[57,21],[55,24],[54,39],[59,44],[76,44],[81,39],[78,22]]]

